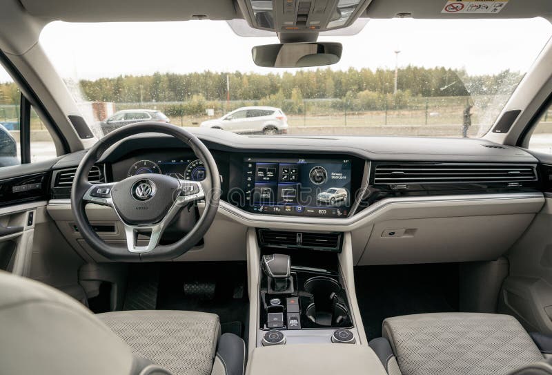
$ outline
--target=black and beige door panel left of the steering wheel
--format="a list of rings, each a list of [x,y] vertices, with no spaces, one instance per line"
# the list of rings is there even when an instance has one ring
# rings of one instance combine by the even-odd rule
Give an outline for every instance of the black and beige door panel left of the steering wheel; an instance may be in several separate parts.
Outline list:
[[[84,264],[46,211],[57,160],[0,168],[0,270],[45,282],[86,303]]]

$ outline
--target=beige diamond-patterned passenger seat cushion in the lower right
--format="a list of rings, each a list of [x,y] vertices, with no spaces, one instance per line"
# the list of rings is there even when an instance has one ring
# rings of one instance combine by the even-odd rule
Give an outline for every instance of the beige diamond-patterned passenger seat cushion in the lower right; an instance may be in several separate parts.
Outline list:
[[[520,323],[508,315],[435,313],[384,320],[368,345],[389,375],[551,374]]]

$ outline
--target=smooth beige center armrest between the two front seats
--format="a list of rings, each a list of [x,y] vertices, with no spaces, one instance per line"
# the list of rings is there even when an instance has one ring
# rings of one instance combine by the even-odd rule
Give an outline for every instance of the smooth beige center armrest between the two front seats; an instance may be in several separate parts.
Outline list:
[[[247,375],[386,375],[370,347],[346,344],[298,344],[257,347]]]

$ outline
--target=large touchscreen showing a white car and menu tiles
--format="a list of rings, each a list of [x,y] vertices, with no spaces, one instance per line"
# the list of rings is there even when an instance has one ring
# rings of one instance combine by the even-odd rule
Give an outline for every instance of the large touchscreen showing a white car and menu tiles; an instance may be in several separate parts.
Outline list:
[[[346,217],[351,209],[349,159],[246,157],[246,209],[272,215]]]

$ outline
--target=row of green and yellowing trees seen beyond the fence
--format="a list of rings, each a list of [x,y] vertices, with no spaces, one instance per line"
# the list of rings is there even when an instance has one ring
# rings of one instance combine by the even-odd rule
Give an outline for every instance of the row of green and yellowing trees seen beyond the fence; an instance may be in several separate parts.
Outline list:
[[[368,68],[348,70],[297,70],[295,73],[154,73],[152,75],[100,78],[79,81],[85,100],[115,103],[181,102],[183,113],[195,113],[204,102],[226,100],[227,77],[230,99],[256,101],[261,105],[286,102],[291,112],[300,112],[303,99],[337,98],[334,106],[401,108],[411,97],[464,97],[509,94],[522,78],[504,70],[497,75],[469,75],[462,69],[443,67],[400,68],[397,94],[395,70]],[[17,102],[17,87],[0,84],[0,104]],[[185,104],[186,103],[186,104]],[[188,108],[190,107],[190,108]],[[295,108],[297,107],[297,108]],[[338,108],[335,108],[338,109]]]

